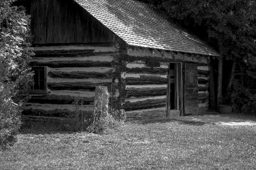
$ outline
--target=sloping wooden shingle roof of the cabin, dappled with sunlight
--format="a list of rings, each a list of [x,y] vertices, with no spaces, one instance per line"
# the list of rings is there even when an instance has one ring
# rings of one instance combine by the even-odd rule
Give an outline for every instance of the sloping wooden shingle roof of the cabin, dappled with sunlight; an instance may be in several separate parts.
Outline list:
[[[135,0],[74,0],[128,45],[220,56],[157,8]]]

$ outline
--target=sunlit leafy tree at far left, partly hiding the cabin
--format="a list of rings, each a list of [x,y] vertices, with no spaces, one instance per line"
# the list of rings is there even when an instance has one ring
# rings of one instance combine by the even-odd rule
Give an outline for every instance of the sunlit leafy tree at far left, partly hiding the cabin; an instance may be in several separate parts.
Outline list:
[[[20,126],[19,105],[32,83],[28,59],[33,54],[30,19],[15,0],[0,1],[0,146],[16,141]]]

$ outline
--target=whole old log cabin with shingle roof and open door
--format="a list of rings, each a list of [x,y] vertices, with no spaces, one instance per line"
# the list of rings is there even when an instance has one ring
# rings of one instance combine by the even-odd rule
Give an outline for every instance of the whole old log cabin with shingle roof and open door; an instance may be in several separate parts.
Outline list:
[[[210,58],[221,55],[158,8],[135,0],[21,0],[35,56],[23,114],[93,112],[96,86],[127,121],[207,111]],[[77,99],[77,100],[76,100]]]

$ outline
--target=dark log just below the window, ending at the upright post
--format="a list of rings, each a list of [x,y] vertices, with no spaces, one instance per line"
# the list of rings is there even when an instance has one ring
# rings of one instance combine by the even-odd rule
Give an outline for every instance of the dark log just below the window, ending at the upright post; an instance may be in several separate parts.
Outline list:
[[[94,97],[73,97],[68,95],[43,95],[43,96],[31,96],[28,103],[40,103],[40,104],[76,104],[75,99],[78,98],[78,104],[81,105],[93,105]]]

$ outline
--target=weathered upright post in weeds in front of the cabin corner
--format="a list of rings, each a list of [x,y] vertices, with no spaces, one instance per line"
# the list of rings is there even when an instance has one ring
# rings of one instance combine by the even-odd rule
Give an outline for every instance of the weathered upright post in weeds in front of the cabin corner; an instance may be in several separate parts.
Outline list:
[[[97,121],[100,117],[105,117],[109,109],[109,93],[108,87],[96,86],[94,96],[93,121]]]

